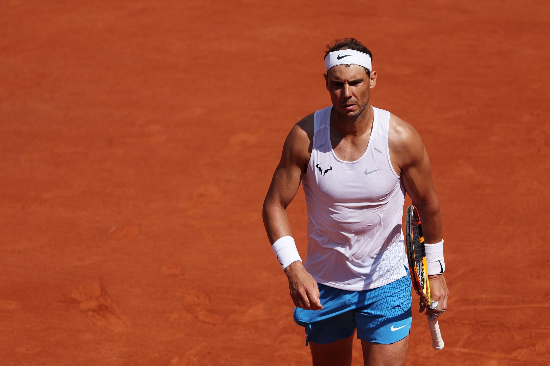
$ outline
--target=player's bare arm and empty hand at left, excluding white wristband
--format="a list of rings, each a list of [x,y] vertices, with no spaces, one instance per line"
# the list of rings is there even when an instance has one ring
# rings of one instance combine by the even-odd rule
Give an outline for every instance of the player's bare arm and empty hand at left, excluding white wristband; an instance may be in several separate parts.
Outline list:
[[[263,201],[263,224],[267,237],[273,243],[292,235],[287,217],[287,206],[294,199],[311,155],[313,115],[305,117],[292,128],[284,142],[281,161],[277,166],[266,199]],[[300,261],[284,270],[288,277],[290,297],[295,306],[321,309],[317,282]]]

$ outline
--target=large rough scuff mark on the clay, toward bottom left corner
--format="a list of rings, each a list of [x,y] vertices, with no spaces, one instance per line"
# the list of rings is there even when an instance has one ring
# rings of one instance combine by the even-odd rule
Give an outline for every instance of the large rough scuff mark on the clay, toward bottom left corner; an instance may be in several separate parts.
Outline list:
[[[80,311],[92,317],[96,324],[106,326],[114,331],[131,328],[128,319],[120,314],[100,283],[92,282],[81,285],[73,290],[71,297],[78,302]]]

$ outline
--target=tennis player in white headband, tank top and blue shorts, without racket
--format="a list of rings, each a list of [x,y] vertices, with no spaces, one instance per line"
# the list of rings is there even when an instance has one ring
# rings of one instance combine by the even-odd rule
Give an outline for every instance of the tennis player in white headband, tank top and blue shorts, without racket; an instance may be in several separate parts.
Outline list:
[[[324,67],[332,105],[296,123],[284,142],[263,204],[267,236],[288,277],[313,365],[350,365],[355,331],[365,365],[404,365],[412,300],[401,229],[405,193],[420,212],[438,301],[426,311],[441,315],[447,308],[430,161],[411,125],[370,105],[377,72],[361,42],[335,40]],[[300,181],[309,216],[305,263],[286,213]]]

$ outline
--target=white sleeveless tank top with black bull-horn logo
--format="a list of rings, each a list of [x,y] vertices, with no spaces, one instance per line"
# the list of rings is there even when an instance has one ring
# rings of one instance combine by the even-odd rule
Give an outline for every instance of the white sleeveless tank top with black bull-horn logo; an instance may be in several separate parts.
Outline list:
[[[332,149],[331,109],[315,112],[313,148],[302,180],[309,216],[304,266],[318,283],[373,289],[406,275],[405,189],[389,157],[390,114],[372,107],[365,154],[343,161]]]

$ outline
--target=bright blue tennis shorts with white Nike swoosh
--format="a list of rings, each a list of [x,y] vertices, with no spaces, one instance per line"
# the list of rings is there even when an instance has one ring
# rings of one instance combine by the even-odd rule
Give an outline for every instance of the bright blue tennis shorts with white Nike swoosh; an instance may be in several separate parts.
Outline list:
[[[294,308],[294,321],[309,342],[326,345],[353,335],[378,344],[392,344],[409,334],[411,279],[407,275],[376,289],[346,291],[318,284],[321,310]]]

